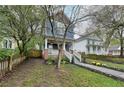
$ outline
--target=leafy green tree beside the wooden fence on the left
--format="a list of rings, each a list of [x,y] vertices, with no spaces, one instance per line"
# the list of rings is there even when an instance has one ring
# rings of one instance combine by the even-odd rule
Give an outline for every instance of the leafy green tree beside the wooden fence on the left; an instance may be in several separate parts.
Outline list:
[[[2,33],[15,39],[21,55],[25,55],[28,42],[37,33],[41,16],[36,6],[0,7]]]

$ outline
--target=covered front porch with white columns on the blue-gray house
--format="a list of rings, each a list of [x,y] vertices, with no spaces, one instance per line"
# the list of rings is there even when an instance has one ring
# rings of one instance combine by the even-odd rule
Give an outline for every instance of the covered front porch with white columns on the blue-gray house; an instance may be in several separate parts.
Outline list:
[[[59,47],[62,47],[62,39],[54,40],[53,38],[45,38],[43,56],[47,59],[48,56],[57,56]],[[72,41],[66,40],[63,50],[70,51],[72,47]]]

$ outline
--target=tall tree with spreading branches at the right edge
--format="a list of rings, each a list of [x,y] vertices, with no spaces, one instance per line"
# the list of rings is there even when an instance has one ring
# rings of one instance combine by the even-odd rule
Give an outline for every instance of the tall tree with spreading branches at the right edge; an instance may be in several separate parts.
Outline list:
[[[111,43],[112,38],[120,41],[120,57],[123,57],[124,47],[124,7],[123,6],[104,6],[95,12],[93,24],[100,27],[106,34],[106,44]]]

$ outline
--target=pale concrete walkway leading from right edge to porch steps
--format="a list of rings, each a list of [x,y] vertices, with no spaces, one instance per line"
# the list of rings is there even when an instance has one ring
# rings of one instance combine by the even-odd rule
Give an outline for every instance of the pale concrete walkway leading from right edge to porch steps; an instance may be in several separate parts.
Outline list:
[[[90,64],[86,64],[86,63],[81,63],[78,61],[75,61],[75,64],[78,66],[82,66],[82,67],[85,67],[87,69],[96,71],[96,72],[104,73],[107,76],[111,76],[113,78],[124,81],[124,72],[108,69],[105,67],[98,67],[98,66],[94,66],[94,65],[90,65]]]

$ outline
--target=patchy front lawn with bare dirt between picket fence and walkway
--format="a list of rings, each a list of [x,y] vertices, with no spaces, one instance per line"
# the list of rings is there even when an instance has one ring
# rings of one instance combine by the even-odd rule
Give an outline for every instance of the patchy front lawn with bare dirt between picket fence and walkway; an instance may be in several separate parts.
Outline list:
[[[58,71],[55,65],[31,60],[17,68],[0,86],[117,87],[124,86],[124,82],[72,64],[61,65]]]

